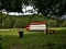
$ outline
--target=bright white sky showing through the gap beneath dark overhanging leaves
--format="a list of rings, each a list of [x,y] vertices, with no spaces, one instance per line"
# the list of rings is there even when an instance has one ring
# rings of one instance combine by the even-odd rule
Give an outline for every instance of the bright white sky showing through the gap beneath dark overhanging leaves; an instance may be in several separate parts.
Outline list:
[[[26,13],[25,13],[25,10],[26,10]],[[23,7],[22,11],[23,13],[18,13],[18,12],[10,12],[9,14],[10,15],[31,15],[33,13],[29,12],[29,10],[32,10],[34,11],[33,7],[29,5],[29,7]],[[7,12],[4,12],[7,14]],[[36,14],[37,12],[34,11],[34,13]]]

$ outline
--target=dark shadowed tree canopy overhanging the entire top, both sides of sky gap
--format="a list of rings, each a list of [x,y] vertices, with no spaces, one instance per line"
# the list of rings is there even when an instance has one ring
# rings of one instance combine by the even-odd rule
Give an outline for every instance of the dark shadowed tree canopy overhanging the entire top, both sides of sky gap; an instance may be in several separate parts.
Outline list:
[[[0,11],[23,13],[23,5],[32,5],[37,14],[62,19],[66,15],[66,0],[0,0]],[[37,10],[36,10],[37,9]]]

